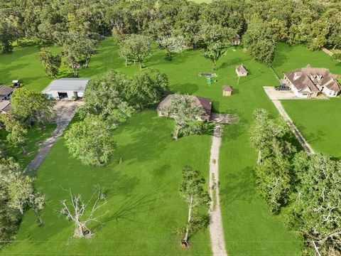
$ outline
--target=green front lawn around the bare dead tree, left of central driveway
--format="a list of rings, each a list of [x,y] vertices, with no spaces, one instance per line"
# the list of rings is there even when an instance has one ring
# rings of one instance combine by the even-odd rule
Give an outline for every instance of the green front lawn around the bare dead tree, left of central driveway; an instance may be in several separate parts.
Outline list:
[[[187,208],[178,193],[181,170],[190,164],[207,177],[209,136],[193,136],[174,141],[173,121],[156,117],[148,110],[134,115],[119,127],[114,138],[117,151],[111,164],[103,168],[82,166],[71,159],[60,139],[40,166],[36,187],[45,193],[43,227],[36,225],[32,211],[21,223],[17,242],[3,250],[11,255],[210,255],[208,232],[191,239],[191,249],[180,249],[176,228],[185,223]],[[122,163],[119,163],[119,159]],[[92,240],[73,239],[73,225],[54,211],[67,191],[89,198],[100,186],[107,194],[103,211],[105,225],[92,225]]]

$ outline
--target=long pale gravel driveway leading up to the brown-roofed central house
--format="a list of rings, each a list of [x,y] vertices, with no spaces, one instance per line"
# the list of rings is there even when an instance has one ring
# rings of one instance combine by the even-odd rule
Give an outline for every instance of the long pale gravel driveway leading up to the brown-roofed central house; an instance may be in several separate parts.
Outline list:
[[[215,132],[212,138],[210,154],[210,239],[213,256],[227,256],[224,240],[224,230],[222,228],[222,213],[220,210],[219,196],[219,151],[222,144],[221,127],[222,124],[216,124]],[[213,180],[214,176],[214,180]],[[215,207],[213,207],[213,197],[215,196]]]

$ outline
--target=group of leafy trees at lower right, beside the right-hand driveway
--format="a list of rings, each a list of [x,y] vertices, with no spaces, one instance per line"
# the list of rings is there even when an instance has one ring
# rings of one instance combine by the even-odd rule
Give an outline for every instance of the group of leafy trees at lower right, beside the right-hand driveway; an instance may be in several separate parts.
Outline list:
[[[254,112],[250,134],[261,156],[257,181],[270,210],[286,206],[288,227],[301,231],[306,245],[320,255],[340,255],[341,161],[297,152],[283,119],[266,110]]]

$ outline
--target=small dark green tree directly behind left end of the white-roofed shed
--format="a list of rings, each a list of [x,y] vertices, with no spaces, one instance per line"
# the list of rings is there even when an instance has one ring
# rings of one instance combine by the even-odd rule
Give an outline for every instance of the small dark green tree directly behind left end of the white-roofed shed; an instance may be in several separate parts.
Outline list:
[[[40,49],[39,59],[45,68],[45,74],[51,78],[57,78],[62,59],[60,55],[53,55],[50,48],[44,47]]]

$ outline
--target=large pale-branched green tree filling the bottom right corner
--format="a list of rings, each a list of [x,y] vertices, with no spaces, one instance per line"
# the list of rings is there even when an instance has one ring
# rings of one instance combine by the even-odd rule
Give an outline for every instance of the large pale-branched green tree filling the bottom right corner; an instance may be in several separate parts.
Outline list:
[[[288,211],[288,224],[301,230],[320,255],[329,255],[332,250],[340,253],[340,161],[301,152],[294,159],[294,167],[298,186]]]

